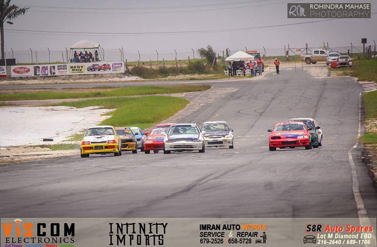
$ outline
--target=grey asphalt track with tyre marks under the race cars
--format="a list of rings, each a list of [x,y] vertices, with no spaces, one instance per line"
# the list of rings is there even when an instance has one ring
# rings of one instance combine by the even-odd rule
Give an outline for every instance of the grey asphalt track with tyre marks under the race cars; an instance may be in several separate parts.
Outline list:
[[[0,216],[358,217],[347,152],[358,135],[359,83],[297,70],[212,85],[237,90],[208,104],[205,93],[201,108],[181,121],[226,120],[235,149],[2,165]],[[323,146],[270,152],[267,129],[292,117],[316,118]],[[361,151],[352,151],[360,192],[376,217]]]

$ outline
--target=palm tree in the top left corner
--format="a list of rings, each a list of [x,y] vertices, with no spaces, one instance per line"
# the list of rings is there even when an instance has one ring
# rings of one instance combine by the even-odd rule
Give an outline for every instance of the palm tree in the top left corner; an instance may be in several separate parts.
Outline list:
[[[10,24],[11,20],[16,19],[20,15],[24,15],[29,8],[20,8],[11,5],[11,0],[0,0],[0,34],[2,36],[2,58],[4,59],[4,22],[8,21]]]

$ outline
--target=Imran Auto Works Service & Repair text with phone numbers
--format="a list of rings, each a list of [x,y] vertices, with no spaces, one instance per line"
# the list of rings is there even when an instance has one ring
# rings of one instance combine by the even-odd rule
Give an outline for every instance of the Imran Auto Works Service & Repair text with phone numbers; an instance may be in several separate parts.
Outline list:
[[[199,241],[201,244],[248,244],[254,243],[253,239],[263,238],[265,242],[266,230],[266,224],[200,224]]]

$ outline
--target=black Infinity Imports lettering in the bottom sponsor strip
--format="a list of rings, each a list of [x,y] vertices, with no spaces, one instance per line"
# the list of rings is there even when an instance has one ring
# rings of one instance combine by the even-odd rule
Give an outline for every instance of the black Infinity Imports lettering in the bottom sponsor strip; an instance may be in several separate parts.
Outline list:
[[[109,223],[109,245],[163,245],[167,223]]]

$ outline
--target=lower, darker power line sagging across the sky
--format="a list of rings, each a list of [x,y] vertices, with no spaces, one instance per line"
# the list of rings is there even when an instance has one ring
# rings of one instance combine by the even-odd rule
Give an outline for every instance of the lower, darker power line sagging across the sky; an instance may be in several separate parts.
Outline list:
[[[377,14],[371,13],[371,15]],[[258,28],[270,28],[270,27],[280,27],[289,25],[301,25],[309,23],[318,23],[324,21],[338,20],[340,18],[334,19],[324,19],[315,21],[305,21],[296,23],[286,23],[277,25],[265,25],[265,26],[251,26],[251,27],[240,27],[240,28],[230,28],[230,29],[209,29],[209,30],[189,30],[189,31],[171,31],[171,32],[124,32],[124,33],[106,33],[106,32],[74,32],[74,31],[49,31],[49,30],[25,30],[25,29],[4,29],[7,32],[12,33],[28,33],[28,34],[43,34],[43,35],[96,35],[96,36],[150,36],[150,35],[183,35],[183,34],[202,34],[202,33],[221,33],[221,32],[235,32],[241,30],[250,30]]]

